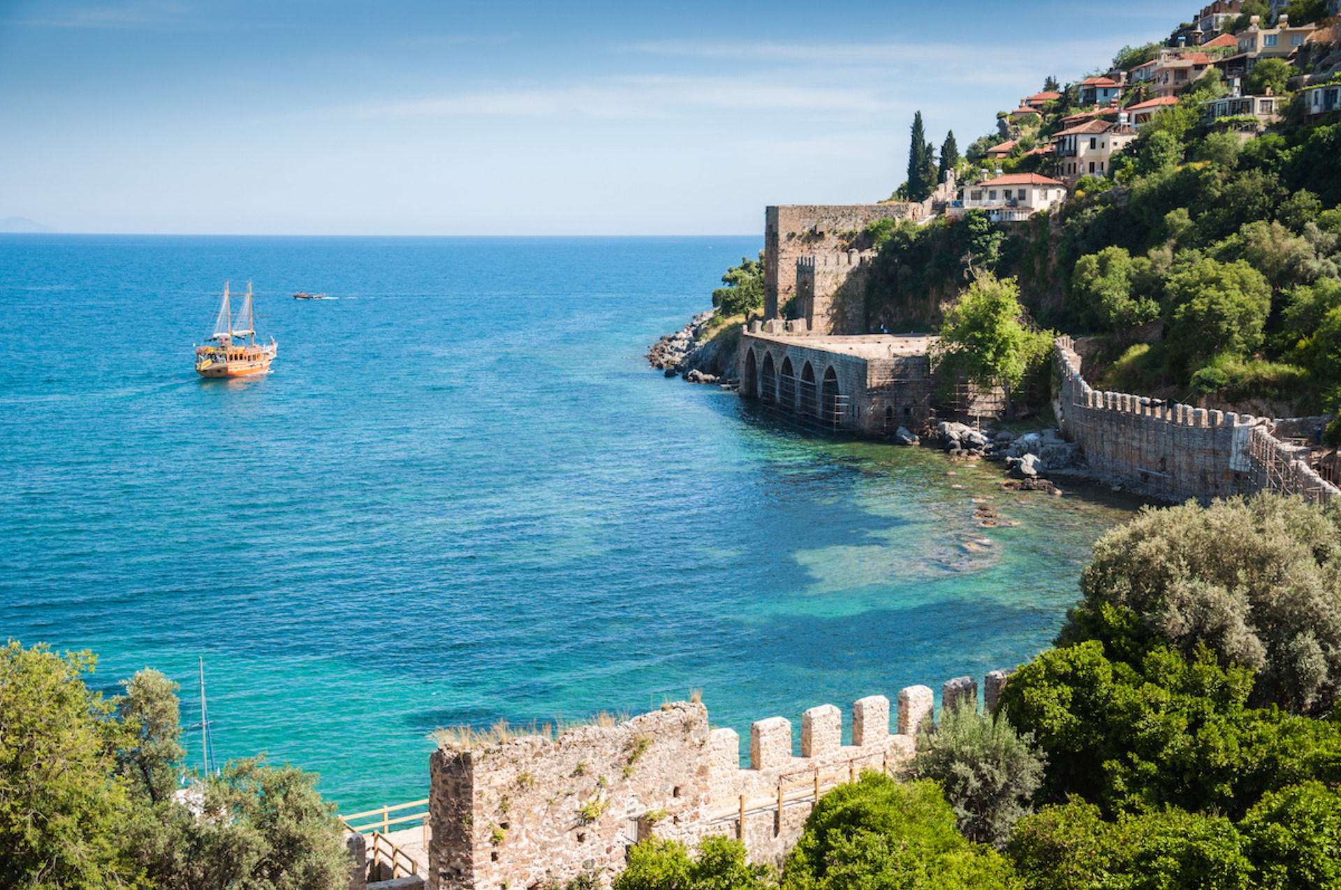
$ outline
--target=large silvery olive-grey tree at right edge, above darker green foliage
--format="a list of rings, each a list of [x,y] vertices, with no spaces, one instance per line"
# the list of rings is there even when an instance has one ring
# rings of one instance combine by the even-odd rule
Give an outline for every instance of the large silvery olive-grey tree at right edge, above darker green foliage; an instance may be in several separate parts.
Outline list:
[[[1094,543],[1062,639],[1102,638],[1104,606],[1130,635],[1258,672],[1252,701],[1326,710],[1341,684],[1341,513],[1257,495],[1145,509]],[[1124,631],[1125,633],[1125,631]]]

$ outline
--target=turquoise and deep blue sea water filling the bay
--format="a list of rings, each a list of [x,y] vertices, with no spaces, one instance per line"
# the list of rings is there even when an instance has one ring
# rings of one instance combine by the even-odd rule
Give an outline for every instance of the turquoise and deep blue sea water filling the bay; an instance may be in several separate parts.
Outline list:
[[[649,370],[758,248],[0,236],[0,637],[93,649],[107,690],[156,666],[188,721],[202,655],[219,753],[345,811],[424,796],[445,724],[701,689],[746,735],[1030,657],[1132,505]],[[274,373],[197,379],[248,277]],[[978,528],[983,493],[1021,524]]]

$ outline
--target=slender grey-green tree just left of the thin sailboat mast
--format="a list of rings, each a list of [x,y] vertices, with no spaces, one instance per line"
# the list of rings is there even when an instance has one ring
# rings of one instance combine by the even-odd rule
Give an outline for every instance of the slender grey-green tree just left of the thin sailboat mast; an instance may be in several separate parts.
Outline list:
[[[135,673],[117,700],[117,718],[126,729],[126,747],[117,752],[118,771],[150,803],[177,791],[181,759],[180,686],[152,668]]]

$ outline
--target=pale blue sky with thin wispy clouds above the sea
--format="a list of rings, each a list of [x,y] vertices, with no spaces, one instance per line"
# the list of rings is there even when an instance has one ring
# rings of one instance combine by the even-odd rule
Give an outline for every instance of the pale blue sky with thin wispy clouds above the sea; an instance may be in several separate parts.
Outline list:
[[[758,235],[888,197],[915,111],[963,150],[1193,5],[0,0],[0,218]]]

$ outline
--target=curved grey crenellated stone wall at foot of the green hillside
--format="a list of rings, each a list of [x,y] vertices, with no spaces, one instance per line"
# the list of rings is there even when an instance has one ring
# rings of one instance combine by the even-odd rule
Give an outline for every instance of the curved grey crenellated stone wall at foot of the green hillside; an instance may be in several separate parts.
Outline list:
[[[1101,393],[1081,375],[1070,338],[1054,344],[1054,410],[1062,434],[1081,446],[1089,474],[1168,500],[1207,500],[1258,491],[1313,501],[1341,495],[1314,472],[1298,434],[1316,418],[1267,420],[1126,393]]]

